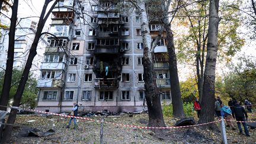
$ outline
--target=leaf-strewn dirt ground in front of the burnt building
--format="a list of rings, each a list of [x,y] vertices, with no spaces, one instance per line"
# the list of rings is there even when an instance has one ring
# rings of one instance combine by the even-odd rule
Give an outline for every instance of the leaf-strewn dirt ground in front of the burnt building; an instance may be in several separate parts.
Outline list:
[[[88,117],[100,120],[101,116]],[[123,116],[104,117],[105,121],[146,126],[147,114],[124,114]],[[30,121],[29,120],[34,120]],[[100,143],[100,123],[89,120],[78,120],[78,129],[66,128],[68,118],[43,115],[18,115],[10,143]],[[174,126],[175,119],[166,118],[167,126]],[[72,123],[73,124],[73,123]],[[217,124],[219,126],[219,124]],[[235,125],[236,126],[236,125]],[[24,127],[37,128],[42,132],[49,129],[55,130],[55,134],[45,137],[21,137],[19,132]],[[199,129],[199,127],[170,129],[164,136],[156,137],[155,133],[148,129],[135,129],[131,127],[117,126],[104,123],[104,143],[220,143],[221,136],[218,132]],[[249,129],[251,137],[238,134],[238,129],[226,128],[228,143],[256,143],[256,129]]]

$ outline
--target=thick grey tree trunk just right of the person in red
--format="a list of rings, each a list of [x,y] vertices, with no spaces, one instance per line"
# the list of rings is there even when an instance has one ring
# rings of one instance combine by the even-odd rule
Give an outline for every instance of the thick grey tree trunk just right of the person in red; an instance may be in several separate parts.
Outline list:
[[[199,123],[214,121],[215,117],[215,69],[217,59],[217,32],[219,26],[219,0],[210,2],[206,66],[204,70],[203,97]],[[210,127],[213,124],[209,125]]]

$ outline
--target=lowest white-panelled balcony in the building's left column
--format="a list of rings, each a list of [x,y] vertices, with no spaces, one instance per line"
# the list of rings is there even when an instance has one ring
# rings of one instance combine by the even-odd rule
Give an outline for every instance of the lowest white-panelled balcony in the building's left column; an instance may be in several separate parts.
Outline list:
[[[61,79],[39,79],[37,81],[37,87],[39,88],[62,88],[63,80]]]

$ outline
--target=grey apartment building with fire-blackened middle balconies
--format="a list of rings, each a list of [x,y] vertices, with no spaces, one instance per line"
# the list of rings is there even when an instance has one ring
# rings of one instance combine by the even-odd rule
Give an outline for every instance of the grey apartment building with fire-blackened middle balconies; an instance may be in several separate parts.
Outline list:
[[[79,2],[79,4],[78,4]],[[41,65],[37,110],[111,112],[146,109],[143,42],[134,10],[117,12],[110,1],[60,1],[52,12],[49,45]],[[82,9],[85,20],[78,17]],[[84,23],[86,22],[86,23]],[[152,39],[160,25],[150,23]],[[161,100],[171,102],[166,40],[154,50]]]

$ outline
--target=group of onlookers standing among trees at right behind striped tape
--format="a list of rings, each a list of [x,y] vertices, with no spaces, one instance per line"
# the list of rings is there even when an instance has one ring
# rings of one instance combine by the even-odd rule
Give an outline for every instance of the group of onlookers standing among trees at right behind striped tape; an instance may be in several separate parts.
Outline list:
[[[247,107],[248,111],[251,112],[251,103],[248,100],[245,100],[245,106]],[[198,98],[196,98],[194,101],[194,110],[197,111],[197,117],[200,117],[201,105]],[[219,119],[220,117],[224,117],[227,123],[227,127],[231,127],[232,130],[236,130],[231,121],[232,117],[236,119],[239,133],[243,133],[241,122],[239,121],[246,121],[248,119],[248,115],[244,107],[242,107],[241,104],[236,101],[236,99],[231,99],[227,106],[222,103],[220,97],[215,98],[215,114],[217,117],[219,117]],[[242,122],[242,125],[244,126],[245,135],[250,136],[246,123]]]

